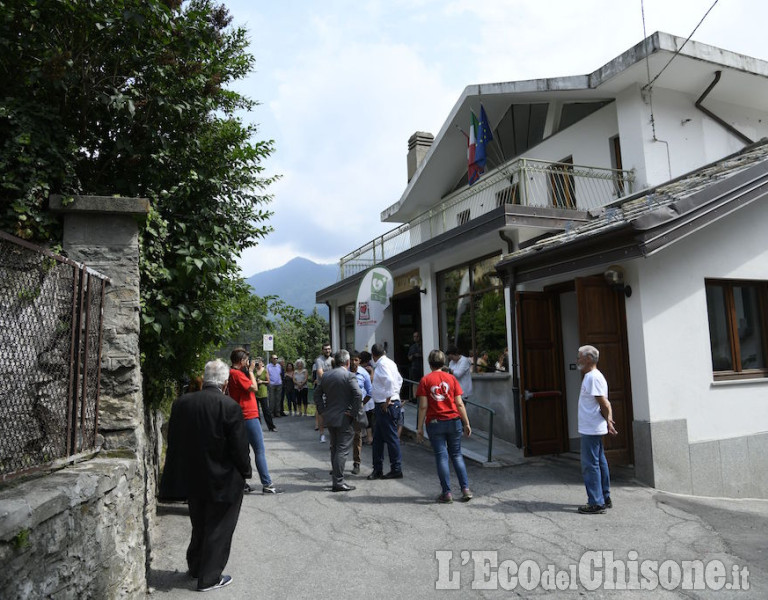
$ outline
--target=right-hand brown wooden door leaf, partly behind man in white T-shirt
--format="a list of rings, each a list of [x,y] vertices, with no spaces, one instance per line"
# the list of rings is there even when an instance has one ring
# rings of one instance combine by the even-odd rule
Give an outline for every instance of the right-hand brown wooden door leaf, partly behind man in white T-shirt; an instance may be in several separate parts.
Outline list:
[[[608,382],[608,400],[619,434],[606,436],[605,456],[612,465],[634,462],[632,391],[627,350],[624,294],[614,291],[602,276],[576,279],[580,345],[600,351],[600,369]]]

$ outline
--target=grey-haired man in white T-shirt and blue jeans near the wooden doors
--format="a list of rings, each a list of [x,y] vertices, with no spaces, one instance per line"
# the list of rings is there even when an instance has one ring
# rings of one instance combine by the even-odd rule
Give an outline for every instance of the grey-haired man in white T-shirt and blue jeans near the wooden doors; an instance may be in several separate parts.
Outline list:
[[[576,358],[584,373],[579,393],[579,434],[581,434],[581,474],[587,488],[587,504],[579,507],[584,514],[602,514],[613,508],[611,477],[605,459],[603,436],[616,435],[608,383],[597,369],[600,352],[594,346],[582,346]]]

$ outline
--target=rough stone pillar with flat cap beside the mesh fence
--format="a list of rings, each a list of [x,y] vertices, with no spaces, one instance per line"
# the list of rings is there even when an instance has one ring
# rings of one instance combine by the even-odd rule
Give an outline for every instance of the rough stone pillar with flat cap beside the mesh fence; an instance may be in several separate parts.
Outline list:
[[[99,431],[104,449],[144,450],[144,402],[139,360],[139,224],[145,198],[51,196],[64,217],[64,252],[106,275]]]

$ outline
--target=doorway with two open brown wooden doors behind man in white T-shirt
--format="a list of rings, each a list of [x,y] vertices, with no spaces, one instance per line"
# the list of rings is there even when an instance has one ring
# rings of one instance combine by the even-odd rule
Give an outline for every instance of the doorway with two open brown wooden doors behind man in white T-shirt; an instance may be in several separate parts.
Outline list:
[[[609,463],[634,462],[632,394],[625,298],[602,275],[577,278],[543,292],[516,294],[520,356],[520,419],[526,456],[577,449],[581,377],[579,346],[600,350],[617,436],[604,438]],[[565,341],[565,343],[564,343]],[[567,345],[567,347],[566,347]]]

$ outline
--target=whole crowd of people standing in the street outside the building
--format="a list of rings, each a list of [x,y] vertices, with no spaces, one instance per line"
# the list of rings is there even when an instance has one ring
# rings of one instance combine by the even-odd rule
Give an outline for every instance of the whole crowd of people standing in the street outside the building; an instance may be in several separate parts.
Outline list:
[[[344,478],[347,456],[354,446],[352,473],[359,474],[362,438],[370,437],[371,430],[373,469],[367,478],[402,479],[398,424],[403,378],[397,365],[380,344],[373,345],[370,356],[356,352],[351,356],[347,350],[336,352],[333,359],[330,355],[330,344],[324,344],[323,354],[315,363],[314,402],[319,415],[318,429],[327,428],[330,436],[331,491],[355,489]],[[230,359],[230,367],[221,360],[207,363],[202,389],[183,395],[173,404],[160,483],[160,498],[188,503],[192,524],[187,548],[188,575],[197,579],[199,591],[223,588],[232,582],[223,569],[243,495],[253,491],[246,481],[252,475],[249,445],[262,492],[281,493],[267,467],[258,400],[267,398],[263,405],[267,408],[269,400],[280,398],[276,391],[270,391],[278,385],[277,378],[271,378],[272,373],[279,372],[277,356],[272,357],[271,370],[265,369],[260,359],[251,359],[242,348],[233,350]],[[607,383],[596,368],[598,360],[599,351],[593,346],[579,348],[577,366],[584,373],[579,396],[579,433],[588,500],[578,510],[588,514],[604,513],[613,506],[602,437],[615,435],[616,429]],[[465,395],[471,393],[467,363],[469,360],[455,347],[448,348],[446,353],[433,350],[428,355],[430,373],[420,379],[416,391],[417,439],[421,442],[426,430],[435,455],[441,486],[437,502],[441,504],[453,502],[449,463],[459,481],[461,500],[473,497],[461,454],[461,436],[472,432],[463,402]],[[306,371],[304,376],[296,376],[297,371],[304,370],[301,361],[297,361],[297,367],[300,368],[286,368],[281,375],[285,381],[290,374],[294,391],[305,389],[308,382]],[[265,385],[267,394],[262,396],[260,391]],[[384,446],[389,456],[387,473],[383,468]]]

